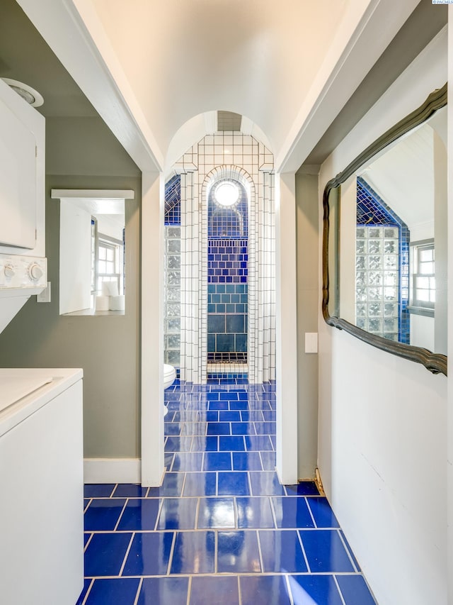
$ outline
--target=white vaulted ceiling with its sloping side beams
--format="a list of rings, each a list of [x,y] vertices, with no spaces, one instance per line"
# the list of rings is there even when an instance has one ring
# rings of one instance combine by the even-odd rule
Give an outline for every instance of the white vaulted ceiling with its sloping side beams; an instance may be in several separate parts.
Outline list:
[[[297,170],[418,0],[18,4],[142,170],[167,170],[217,110]]]

